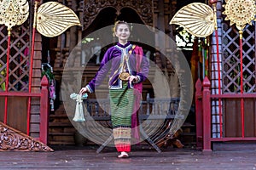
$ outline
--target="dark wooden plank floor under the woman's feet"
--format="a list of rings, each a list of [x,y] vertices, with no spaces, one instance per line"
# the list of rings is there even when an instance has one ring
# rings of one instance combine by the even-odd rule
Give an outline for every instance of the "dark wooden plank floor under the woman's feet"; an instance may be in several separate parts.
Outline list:
[[[96,154],[96,146],[53,147],[54,152],[2,152],[0,169],[256,169],[256,144],[214,144],[212,153],[193,148],[168,148],[161,153],[147,145],[132,148],[131,157],[117,158],[113,148]]]

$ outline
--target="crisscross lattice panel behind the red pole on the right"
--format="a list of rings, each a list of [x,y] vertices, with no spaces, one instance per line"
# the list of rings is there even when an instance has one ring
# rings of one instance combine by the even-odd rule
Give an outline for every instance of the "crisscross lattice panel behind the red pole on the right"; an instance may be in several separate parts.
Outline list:
[[[224,93],[241,92],[240,43],[236,26],[223,23]],[[255,92],[255,26],[247,26],[242,38],[243,91]]]

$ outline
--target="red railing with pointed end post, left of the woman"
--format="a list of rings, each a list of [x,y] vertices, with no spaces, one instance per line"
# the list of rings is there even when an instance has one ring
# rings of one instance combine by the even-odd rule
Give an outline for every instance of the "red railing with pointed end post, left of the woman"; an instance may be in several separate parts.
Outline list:
[[[39,140],[44,144],[48,144],[49,133],[49,81],[47,77],[43,77],[41,81],[41,93],[24,93],[24,92],[1,92],[0,96],[8,97],[38,97],[40,98],[40,129]],[[4,115],[7,120],[8,114]],[[27,119],[30,120],[30,119]],[[19,120],[17,120],[19,121]],[[6,124],[6,122],[4,122]],[[30,123],[30,122],[27,122]],[[29,133],[29,129],[26,129]]]

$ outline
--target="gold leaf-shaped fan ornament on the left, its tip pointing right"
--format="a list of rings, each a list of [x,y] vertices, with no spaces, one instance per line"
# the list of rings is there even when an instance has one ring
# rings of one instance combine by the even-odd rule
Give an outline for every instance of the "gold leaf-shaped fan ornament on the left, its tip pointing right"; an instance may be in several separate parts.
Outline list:
[[[59,36],[71,26],[81,26],[72,9],[61,3],[43,3],[38,8],[37,30],[45,37]]]

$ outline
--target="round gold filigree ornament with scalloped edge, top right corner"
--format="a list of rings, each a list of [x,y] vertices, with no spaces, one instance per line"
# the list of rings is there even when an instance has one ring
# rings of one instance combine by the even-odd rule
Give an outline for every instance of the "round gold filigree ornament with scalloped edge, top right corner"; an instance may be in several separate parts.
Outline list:
[[[230,20],[230,26],[236,24],[242,31],[247,24],[252,25],[256,14],[255,0],[226,0],[224,8],[223,14],[227,15],[225,20]]]

